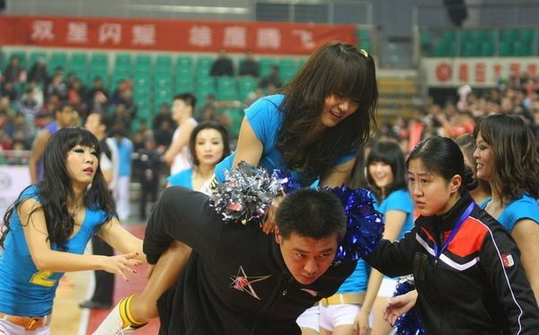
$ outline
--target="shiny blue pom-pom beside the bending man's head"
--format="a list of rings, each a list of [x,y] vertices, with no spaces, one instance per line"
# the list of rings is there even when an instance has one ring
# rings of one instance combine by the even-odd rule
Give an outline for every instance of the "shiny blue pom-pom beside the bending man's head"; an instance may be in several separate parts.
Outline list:
[[[373,251],[384,233],[384,220],[375,209],[371,191],[352,190],[347,186],[324,190],[340,198],[348,219],[346,234],[340,242],[335,260],[358,260]]]

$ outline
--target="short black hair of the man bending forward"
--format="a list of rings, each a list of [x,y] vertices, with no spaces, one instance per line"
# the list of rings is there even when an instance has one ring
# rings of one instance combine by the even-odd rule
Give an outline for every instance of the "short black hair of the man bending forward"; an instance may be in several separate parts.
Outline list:
[[[346,215],[340,199],[325,190],[296,190],[280,203],[276,223],[281,236],[292,233],[323,239],[336,234],[338,241],[346,233]]]

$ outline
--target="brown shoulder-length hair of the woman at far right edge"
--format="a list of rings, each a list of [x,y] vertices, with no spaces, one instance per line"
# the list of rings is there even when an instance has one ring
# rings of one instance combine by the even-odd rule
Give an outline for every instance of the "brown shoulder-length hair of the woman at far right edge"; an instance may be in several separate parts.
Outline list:
[[[539,153],[534,133],[516,115],[496,114],[481,119],[473,129],[490,145],[494,155],[493,184],[502,201],[527,192],[539,197]]]

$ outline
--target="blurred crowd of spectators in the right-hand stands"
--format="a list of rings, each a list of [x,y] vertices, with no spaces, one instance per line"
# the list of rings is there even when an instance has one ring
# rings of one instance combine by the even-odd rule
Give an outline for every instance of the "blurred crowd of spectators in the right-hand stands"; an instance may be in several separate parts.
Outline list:
[[[457,99],[437,103],[429,98],[411,119],[397,117],[393,123],[378,125],[376,137],[398,141],[409,153],[421,139],[432,135],[456,138],[472,133],[477,119],[490,114],[516,114],[526,121],[539,139],[539,77],[527,73],[501,78],[497,87],[455,89]]]

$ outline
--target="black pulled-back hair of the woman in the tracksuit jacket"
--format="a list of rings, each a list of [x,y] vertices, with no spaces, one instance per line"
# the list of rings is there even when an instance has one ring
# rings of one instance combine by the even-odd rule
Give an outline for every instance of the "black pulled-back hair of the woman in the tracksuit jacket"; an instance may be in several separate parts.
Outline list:
[[[461,194],[477,187],[472,169],[464,164],[464,155],[451,138],[433,136],[424,139],[408,156],[407,169],[414,159],[420,159],[427,171],[440,174],[446,181],[451,181],[456,174],[460,175]]]

